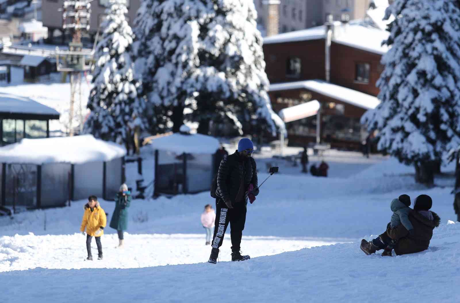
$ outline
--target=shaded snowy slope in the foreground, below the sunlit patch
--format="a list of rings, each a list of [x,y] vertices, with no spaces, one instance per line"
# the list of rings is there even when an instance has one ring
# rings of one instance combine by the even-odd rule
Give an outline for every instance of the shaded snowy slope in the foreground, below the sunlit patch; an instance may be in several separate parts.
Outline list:
[[[429,250],[398,257],[366,256],[351,243],[216,265],[13,271],[0,276],[2,298],[8,303],[80,303],[83,297],[88,303],[206,298],[242,303],[372,302],[380,294],[386,302],[454,303],[460,300],[459,233],[459,223],[443,224]]]

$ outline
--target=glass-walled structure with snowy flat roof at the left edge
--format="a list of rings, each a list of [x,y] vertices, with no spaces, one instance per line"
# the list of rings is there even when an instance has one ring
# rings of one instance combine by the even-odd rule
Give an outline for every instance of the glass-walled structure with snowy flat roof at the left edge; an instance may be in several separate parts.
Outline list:
[[[22,138],[50,136],[49,120],[59,113],[29,98],[0,93],[0,146],[17,143]]]

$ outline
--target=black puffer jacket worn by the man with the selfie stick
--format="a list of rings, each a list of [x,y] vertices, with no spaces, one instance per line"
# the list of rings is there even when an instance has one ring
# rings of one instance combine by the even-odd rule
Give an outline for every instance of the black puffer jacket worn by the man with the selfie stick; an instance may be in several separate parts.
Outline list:
[[[244,194],[247,203],[246,191],[250,183],[254,188],[258,186],[256,161],[253,158],[242,158],[238,151],[226,156],[219,165],[217,173],[217,190],[216,194],[222,200],[230,200],[235,204],[236,195],[240,189],[241,179],[244,168]]]

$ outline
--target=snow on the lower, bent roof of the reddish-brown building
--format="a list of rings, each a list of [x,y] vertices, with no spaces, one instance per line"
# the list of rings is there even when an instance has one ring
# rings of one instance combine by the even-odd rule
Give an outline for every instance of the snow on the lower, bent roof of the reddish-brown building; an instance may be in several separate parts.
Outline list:
[[[269,91],[286,91],[301,88],[307,89],[309,91],[315,91],[324,96],[355,105],[362,109],[375,109],[380,103],[377,97],[365,94],[361,91],[355,91],[350,88],[338,86],[323,80],[305,80],[270,84]]]

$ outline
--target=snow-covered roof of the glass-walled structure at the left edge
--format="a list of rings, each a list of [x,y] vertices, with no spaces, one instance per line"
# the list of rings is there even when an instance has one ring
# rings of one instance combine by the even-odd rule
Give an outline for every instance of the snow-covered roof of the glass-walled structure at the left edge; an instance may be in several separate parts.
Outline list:
[[[59,112],[28,97],[0,92],[0,113],[53,115],[59,119]]]

